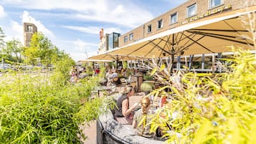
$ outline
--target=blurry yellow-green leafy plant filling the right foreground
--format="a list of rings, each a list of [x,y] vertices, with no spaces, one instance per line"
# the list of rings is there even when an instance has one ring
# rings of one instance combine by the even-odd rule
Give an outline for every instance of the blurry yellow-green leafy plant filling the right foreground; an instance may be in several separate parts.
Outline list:
[[[233,63],[231,72],[187,73],[181,75],[182,87],[161,75],[169,85],[151,94],[168,95],[171,102],[156,112],[151,130],[160,127],[168,138],[166,143],[253,143],[255,55],[239,49],[232,59],[225,60]],[[164,69],[159,69],[153,69],[152,75],[162,74]]]

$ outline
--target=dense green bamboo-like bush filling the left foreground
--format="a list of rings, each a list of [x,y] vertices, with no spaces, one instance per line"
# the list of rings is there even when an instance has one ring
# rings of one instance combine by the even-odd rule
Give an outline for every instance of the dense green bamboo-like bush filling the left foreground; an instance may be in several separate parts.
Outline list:
[[[63,85],[56,74],[1,77],[0,143],[80,143],[78,125],[105,110],[105,101],[90,100],[98,77]]]

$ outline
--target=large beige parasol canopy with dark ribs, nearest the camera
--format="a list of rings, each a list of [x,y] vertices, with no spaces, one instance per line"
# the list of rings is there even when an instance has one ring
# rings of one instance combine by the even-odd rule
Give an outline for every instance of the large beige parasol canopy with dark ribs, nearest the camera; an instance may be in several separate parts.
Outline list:
[[[90,59],[108,59],[106,55],[126,57],[170,57],[171,55],[230,52],[230,46],[250,49],[253,42],[242,35],[250,35],[240,16],[256,11],[256,6],[228,11],[166,30],[138,42],[99,54]]]

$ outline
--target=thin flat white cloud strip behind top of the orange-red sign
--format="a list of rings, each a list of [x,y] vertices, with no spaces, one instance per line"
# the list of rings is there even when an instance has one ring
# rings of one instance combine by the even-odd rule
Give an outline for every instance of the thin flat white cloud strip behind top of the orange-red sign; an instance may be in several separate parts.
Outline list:
[[[75,27],[75,26],[63,26],[63,27],[67,29],[76,30],[79,32],[89,33],[89,34],[99,34],[101,29],[100,27]],[[115,27],[109,27],[104,29],[105,34],[110,34],[112,32],[121,33],[121,30]]]

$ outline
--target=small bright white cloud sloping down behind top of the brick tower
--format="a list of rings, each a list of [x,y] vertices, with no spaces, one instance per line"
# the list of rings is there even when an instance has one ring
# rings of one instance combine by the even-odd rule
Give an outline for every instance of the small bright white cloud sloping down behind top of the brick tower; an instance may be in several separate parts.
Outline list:
[[[43,34],[47,35],[47,37],[54,38],[54,34],[49,29],[44,27],[44,24],[42,24],[37,19],[34,19],[34,17],[30,16],[28,11],[23,11],[22,23],[24,22],[35,24],[37,26],[38,32],[42,32]]]

